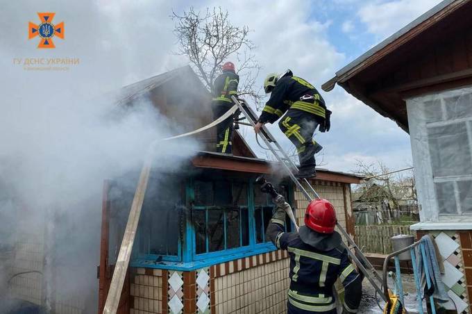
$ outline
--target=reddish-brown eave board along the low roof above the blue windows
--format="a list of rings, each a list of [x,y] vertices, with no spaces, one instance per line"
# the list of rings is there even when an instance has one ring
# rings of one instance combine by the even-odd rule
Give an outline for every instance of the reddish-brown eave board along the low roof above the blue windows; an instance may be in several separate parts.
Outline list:
[[[211,151],[199,151],[192,159],[195,167],[231,170],[238,172],[251,172],[258,174],[273,173],[274,166],[278,163],[260,158],[248,158],[241,156],[230,156]],[[323,181],[332,181],[340,183],[360,183],[362,176],[348,174],[344,172],[334,172],[326,169],[317,168],[316,179]]]

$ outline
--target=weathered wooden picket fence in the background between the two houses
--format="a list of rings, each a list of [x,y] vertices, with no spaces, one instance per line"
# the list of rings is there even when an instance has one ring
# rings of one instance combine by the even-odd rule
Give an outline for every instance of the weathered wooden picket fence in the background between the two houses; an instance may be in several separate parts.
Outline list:
[[[398,234],[416,236],[410,226],[355,226],[355,242],[366,253],[390,254],[393,252],[390,238]]]

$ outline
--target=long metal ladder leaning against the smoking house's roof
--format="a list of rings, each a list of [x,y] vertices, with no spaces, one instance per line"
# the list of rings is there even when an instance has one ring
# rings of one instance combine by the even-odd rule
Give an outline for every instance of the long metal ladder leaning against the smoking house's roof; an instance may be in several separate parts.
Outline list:
[[[251,126],[255,126],[255,124],[258,122],[258,116],[255,115],[254,111],[252,110],[251,107],[249,107],[246,102],[242,99],[237,99],[236,97],[232,96],[231,99],[233,99],[234,103],[238,106],[239,110],[241,110],[242,114],[248,122],[251,123]],[[262,129],[260,131],[260,138],[264,141],[264,143],[267,145],[267,148],[272,152],[273,156],[276,157],[278,162],[283,165],[285,170],[287,170],[287,173],[290,176],[290,179],[295,183],[295,185],[298,187],[298,189],[305,195],[306,199],[308,201],[312,201],[311,195],[307,192],[307,190],[303,187],[303,184],[296,179],[294,176],[292,170],[298,170],[294,162],[289,158],[287,152],[278,144],[275,138],[271,135],[269,132],[269,129],[267,129],[266,126],[262,126]],[[257,135],[256,135],[257,136]],[[292,168],[292,170],[291,170]],[[314,190],[312,185],[307,179],[301,179],[303,183],[308,187],[312,195],[314,195],[314,198],[319,199],[317,191]],[[362,253],[359,247],[355,244],[353,238],[349,236],[349,234],[344,230],[344,228],[337,222],[337,229],[342,233],[344,238],[346,238],[348,245],[346,245],[343,242],[343,245],[346,247],[349,256],[351,256],[351,260],[357,265],[357,267],[360,269],[362,274],[364,274],[365,278],[369,280],[369,282],[372,284],[373,288],[376,289],[380,297],[387,302],[387,297],[384,295],[384,292],[382,291],[382,278],[380,275],[376,272],[376,270],[373,268],[373,265],[367,260],[366,256]],[[353,251],[351,251],[353,249]],[[357,258],[357,256],[359,258]],[[360,261],[362,260],[362,261]]]

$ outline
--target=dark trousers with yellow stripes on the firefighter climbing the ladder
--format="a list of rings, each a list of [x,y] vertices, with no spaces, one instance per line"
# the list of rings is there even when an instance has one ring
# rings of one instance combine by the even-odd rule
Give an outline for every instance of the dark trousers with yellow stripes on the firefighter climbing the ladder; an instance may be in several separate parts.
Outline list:
[[[280,130],[294,143],[300,167],[314,167],[314,154],[321,150],[321,145],[313,139],[313,133],[319,123],[317,116],[302,110],[289,109],[280,119]]]

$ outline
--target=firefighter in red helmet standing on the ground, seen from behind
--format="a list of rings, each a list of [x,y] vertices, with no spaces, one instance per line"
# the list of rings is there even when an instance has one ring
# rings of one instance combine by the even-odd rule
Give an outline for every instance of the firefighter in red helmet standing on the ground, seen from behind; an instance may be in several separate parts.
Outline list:
[[[332,204],[326,199],[314,199],[305,211],[305,226],[298,232],[285,232],[285,210],[292,208],[271,185],[268,188],[264,183],[261,190],[269,192],[276,204],[266,237],[290,256],[287,313],[336,314],[333,285],[337,279],[345,289],[343,314],[356,313],[362,297],[362,276],[335,231],[337,220]]]

